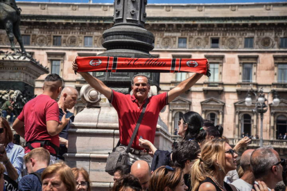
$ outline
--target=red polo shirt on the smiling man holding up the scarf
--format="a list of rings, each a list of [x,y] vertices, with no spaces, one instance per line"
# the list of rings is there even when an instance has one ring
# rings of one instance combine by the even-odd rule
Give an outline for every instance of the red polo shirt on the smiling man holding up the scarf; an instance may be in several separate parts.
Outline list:
[[[123,145],[130,143],[130,138],[134,128],[137,125],[137,120],[143,109],[143,105],[146,100],[139,107],[138,101],[134,96],[125,95],[116,91],[112,91],[112,105],[118,112],[119,116],[119,134],[120,142]],[[146,106],[146,112],[144,113],[137,136],[134,138],[132,148],[143,149],[139,147],[139,137],[150,140],[151,143],[155,140],[155,130],[157,129],[157,119],[159,118],[159,112],[168,104],[167,93],[161,93],[157,96],[150,97],[150,102]]]

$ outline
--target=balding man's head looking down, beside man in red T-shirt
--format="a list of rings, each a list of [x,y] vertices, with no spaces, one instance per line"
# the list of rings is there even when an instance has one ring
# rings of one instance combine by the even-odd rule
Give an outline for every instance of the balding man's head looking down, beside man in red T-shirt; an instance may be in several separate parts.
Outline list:
[[[73,87],[65,87],[62,90],[60,100],[64,109],[72,109],[78,100],[78,91]]]

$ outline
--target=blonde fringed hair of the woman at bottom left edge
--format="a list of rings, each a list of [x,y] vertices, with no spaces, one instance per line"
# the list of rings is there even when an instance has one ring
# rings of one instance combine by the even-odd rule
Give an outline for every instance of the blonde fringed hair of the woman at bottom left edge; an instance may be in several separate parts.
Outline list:
[[[51,174],[58,174],[60,176],[61,181],[66,185],[69,191],[76,191],[76,183],[75,178],[73,176],[73,172],[71,168],[65,163],[55,163],[46,167],[46,169],[42,173],[42,181]]]

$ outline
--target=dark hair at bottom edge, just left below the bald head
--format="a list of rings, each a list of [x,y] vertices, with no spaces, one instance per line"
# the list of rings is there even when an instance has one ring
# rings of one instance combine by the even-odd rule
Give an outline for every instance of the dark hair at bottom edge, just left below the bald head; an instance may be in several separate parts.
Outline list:
[[[141,191],[141,183],[139,183],[139,179],[132,176],[132,174],[125,174],[114,182],[114,186],[111,191],[120,191],[126,190],[127,188],[131,188],[133,191]]]

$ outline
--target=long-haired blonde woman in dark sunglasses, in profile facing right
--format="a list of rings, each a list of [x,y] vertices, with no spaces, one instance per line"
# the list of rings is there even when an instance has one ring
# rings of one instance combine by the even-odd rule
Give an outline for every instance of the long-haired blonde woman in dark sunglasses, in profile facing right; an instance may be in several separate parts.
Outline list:
[[[214,138],[201,147],[201,158],[191,167],[193,191],[236,191],[223,180],[230,170],[236,169],[236,151],[226,139]]]

